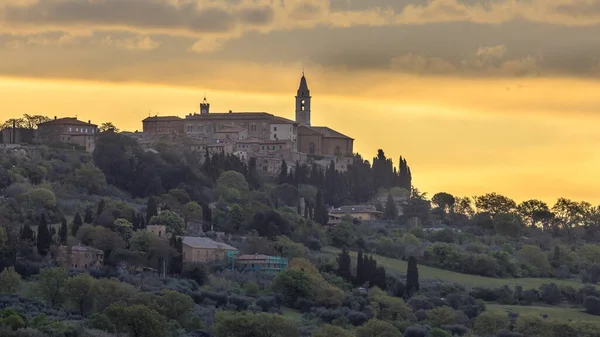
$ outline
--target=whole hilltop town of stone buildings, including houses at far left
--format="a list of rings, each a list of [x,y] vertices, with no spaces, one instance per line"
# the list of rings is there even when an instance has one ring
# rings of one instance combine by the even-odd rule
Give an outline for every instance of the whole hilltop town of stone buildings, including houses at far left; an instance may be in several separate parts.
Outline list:
[[[266,175],[279,174],[283,161],[290,170],[297,164],[327,167],[333,161],[336,170],[345,171],[354,157],[354,139],[327,126],[313,126],[311,99],[303,74],[295,96],[295,121],[268,112],[212,112],[204,97],[198,113],[183,118],[149,116],[142,121],[142,132],[123,134],[147,149],[165,142],[185,144],[191,150],[208,154],[233,154],[246,163],[255,158],[258,171]],[[63,143],[88,152],[94,150],[99,126],[90,120],[37,117],[33,121],[38,123],[37,128],[13,127],[9,121],[2,130],[2,143]],[[19,122],[22,123],[27,122]]]

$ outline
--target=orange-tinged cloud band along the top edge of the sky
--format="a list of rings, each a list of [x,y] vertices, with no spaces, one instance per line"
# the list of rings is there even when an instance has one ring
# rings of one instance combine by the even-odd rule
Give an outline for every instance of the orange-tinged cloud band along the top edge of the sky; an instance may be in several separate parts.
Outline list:
[[[239,37],[317,26],[397,26],[439,22],[498,24],[514,20],[567,26],[600,24],[592,0],[430,0],[393,9],[335,7],[332,0],[0,0],[0,25],[21,30],[127,30],[143,34]],[[355,0],[367,3],[370,0]],[[398,7],[398,6],[396,6]],[[357,7],[358,8],[358,7]]]

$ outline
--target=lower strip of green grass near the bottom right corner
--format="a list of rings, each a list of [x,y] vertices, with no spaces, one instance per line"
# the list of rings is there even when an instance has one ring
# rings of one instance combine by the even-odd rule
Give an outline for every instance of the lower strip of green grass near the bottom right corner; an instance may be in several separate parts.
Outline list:
[[[507,313],[509,311],[518,314],[533,314],[533,315],[548,315],[548,319],[556,320],[574,320],[574,321],[589,321],[600,323],[600,316],[590,315],[581,309],[577,308],[561,308],[561,307],[540,307],[540,306],[521,306],[521,305],[504,305],[504,304],[486,304],[486,311],[496,313]]]

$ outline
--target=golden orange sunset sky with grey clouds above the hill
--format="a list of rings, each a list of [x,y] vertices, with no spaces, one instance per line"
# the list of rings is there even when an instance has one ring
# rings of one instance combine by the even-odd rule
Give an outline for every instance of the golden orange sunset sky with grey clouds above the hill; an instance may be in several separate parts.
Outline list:
[[[0,0],[0,120],[293,119],[432,195],[600,203],[600,1]]]

